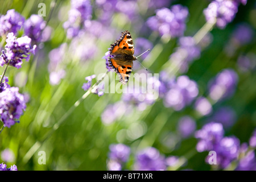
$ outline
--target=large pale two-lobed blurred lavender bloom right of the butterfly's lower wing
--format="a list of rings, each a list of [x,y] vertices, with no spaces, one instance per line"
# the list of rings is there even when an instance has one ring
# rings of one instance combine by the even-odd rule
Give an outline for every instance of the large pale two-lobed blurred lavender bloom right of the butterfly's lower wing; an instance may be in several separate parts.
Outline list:
[[[198,88],[195,81],[192,81],[188,76],[179,76],[175,84],[164,95],[164,105],[173,107],[174,110],[181,110],[185,106],[191,104],[198,94]]]

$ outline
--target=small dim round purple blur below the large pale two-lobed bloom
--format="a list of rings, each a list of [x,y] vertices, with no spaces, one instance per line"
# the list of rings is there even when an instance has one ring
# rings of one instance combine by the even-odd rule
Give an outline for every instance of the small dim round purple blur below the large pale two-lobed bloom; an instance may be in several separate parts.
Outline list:
[[[181,137],[188,138],[196,130],[196,122],[189,116],[184,116],[179,119],[177,129]]]

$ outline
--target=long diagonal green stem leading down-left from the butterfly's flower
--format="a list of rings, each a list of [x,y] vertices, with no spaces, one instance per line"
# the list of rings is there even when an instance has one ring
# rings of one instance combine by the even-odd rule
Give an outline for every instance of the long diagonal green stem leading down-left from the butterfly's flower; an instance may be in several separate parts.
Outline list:
[[[101,82],[102,80],[104,80],[104,78],[106,77],[106,75],[108,75],[108,73],[109,73],[109,71],[106,71],[106,72],[104,73],[104,75],[102,75],[101,78],[100,78],[93,86],[91,86],[91,87],[87,90],[87,92],[85,92],[85,94],[84,94],[81,98],[79,98],[79,100],[77,100],[77,101],[75,102],[75,104],[73,104],[73,105],[69,108],[69,110],[67,111],[67,113],[65,113],[65,114],[63,115],[63,117],[61,117],[61,118],[59,119],[59,121],[58,121],[57,123],[55,123],[55,125],[53,125],[52,130],[49,131],[49,132],[44,136],[44,138],[42,139],[42,141],[37,141],[37,142],[30,148],[30,150],[28,150],[28,152],[26,153],[26,155],[24,155],[24,158],[23,158],[23,162],[24,162],[24,163],[27,163],[28,160],[30,160],[30,158],[32,157],[32,155],[34,155],[35,152],[38,150],[38,148],[40,148],[40,147],[42,146],[42,144],[43,144],[44,142],[46,142],[46,140],[47,140],[49,137],[51,137],[51,135],[54,133],[54,131],[56,131],[57,129],[59,129],[59,126],[65,121],[65,119],[67,119],[67,118],[69,117],[69,115],[71,115],[71,113],[73,112],[73,110],[75,110],[76,107],[79,106],[79,105],[81,104],[81,102],[82,102],[83,100],[85,100],[86,97],[89,96],[90,93],[92,93],[92,90],[93,90],[96,86],[98,86],[98,84],[100,84],[100,82]]]

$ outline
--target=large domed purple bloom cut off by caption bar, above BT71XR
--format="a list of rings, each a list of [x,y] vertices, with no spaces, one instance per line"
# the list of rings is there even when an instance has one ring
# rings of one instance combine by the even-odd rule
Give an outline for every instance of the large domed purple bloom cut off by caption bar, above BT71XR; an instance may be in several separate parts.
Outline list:
[[[139,151],[134,166],[138,171],[162,171],[166,169],[166,160],[154,147]]]

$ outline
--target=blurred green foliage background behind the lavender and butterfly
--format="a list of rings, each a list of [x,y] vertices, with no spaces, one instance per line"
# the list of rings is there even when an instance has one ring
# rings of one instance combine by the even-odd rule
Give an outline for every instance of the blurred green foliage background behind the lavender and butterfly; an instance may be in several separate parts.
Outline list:
[[[19,93],[28,94],[30,97],[20,123],[16,123],[10,129],[5,128],[0,134],[0,151],[9,148],[15,155],[15,160],[6,163],[7,166],[15,164],[18,170],[106,170],[109,145],[124,143],[131,147],[129,162],[125,167],[127,169],[133,169],[136,152],[148,146],[157,148],[165,156],[176,155],[187,158],[187,163],[179,169],[210,169],[209,164],[205,163],[208,152],[196,151],[197,139],[193,137],[180,139],[177,134],[177,122],[184,115],[195,118],[197,129],[201,129],[204,125],[207,117],[200,117],[193,106],[175,111],[164,107],[163,101],[159,99],[143,111],[134,107],[132,111],[121,115],[117,121],[104,125],[101,114],[106,106],[121,100],[122,95],[106,93],[98,97],[97,94],[90,94],[56,128],[55,124],[85,93],[81,88],[85,77],[93,74],[97,76],[106,71],[105,59],[102,57],[108,51],[110,44],[121,35],[121,31],[129,30],[134,40],[142,35],[133,33],[136,23],[130,20],[122,22],[120,21],[122,16],[115,14],[112,23],[109,24],[115,30],[113,40],[97,39],[95,41],[97,54],[86,61],[81,61],[79,56],[67,52],[64,56],[67,75],[59,85],[51,85],[48,53],[64,42],[67,42],[68,47],[71,43],[63,28],[63,23],[68,19],[70,2],[56,1],[52,9],[53,1],[0,1],[2,5],[0,14],[4,15],[7,10],[15,9],[27,19],[31,14],[38,13],[40,2],[46,4],[47,15],[44,20],[47,20],[47,25],[52,27],[51,39],[40,44],[39,47],[42,47],[40,54],[31,56],[29,62],[22,64],[22,68],[8,68],[6,73],[9,84],[18,86]],[[184,35],[193,36],[205,23],[203,10],[208,6],[209,1],[174,1],[172,4],[177,3],[188,7],[189,16]],[[154,11],[151,15],[154,15]],[[213,105],[213,110],[221,106],[231,106],[234,109],[237,115],[236,122],[230,130],[225,131],[225,135],[235,135],[241,143],[248,142],[256,126],[256,75],[255,70],[239,72],[237,59],[241,53],[256,53],[255,37],[251,44],[238,48],[232,56],[227,55],[224,49],[236,24],[247,22],[255,30],[255,16],[255,1],[248,1],[246,6],[239,7],[236,18],[224,30],[213,28],[210,32],[212,43],[203,49],[200,59],[193,61],[186,73],[191,80],[197,82],[199,95],[206,96],[208,81],[218,72],[224,68],[233,68],[237,71],[239,81],[234,96]],[[141,17],[142,22],[148,18],[147,14],[143,13]],[[92,19],[97,19],[97,11],[93,11]],[[19,35],[22,35],[22,32]],[[154,46],[160,45],[160,48],[158,55],[152,55],[154,60],[143,64],[151,72],[159,73],[163,69],[162,65],[168,61],[177,47],[177,39],[171,39],[166,43],[155,36],[146,38],[151,40]],[[2,71],[3,68],[0,68],[1,73]],[[129,132],[135,132],[137,127],[141,129],[138,131],[141,135],[138,138],[129,137]],[[46,136],[47,139],[44,140]],[[31,149],[33,146],[36,148],[35,151]],[[46,152],[46,164],[38,163],[39,151]]]

